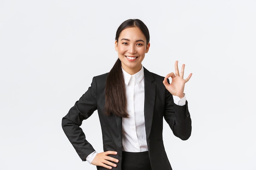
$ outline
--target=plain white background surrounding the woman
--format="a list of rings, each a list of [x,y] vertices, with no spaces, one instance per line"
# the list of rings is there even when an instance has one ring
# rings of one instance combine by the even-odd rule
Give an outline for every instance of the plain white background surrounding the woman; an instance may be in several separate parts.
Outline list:
[[[165,76],[179,60],[193,73],[191,137],[164,124],[173,170],[255,170],[255,9],[255,0],[0,0],[0,169],[96,170],[61,119],[117,60],[117,27],[138,18],[150,31],[143,65]],[[101,152],[97,112],[82,128]]]

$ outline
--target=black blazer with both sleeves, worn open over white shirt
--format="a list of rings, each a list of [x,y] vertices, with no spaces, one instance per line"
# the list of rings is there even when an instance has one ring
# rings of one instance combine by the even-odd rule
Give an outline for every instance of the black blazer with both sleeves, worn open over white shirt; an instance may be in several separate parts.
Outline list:
[[[98,110],[103,137],[103,150],[117,151],[117,155],[110,155],[119,159],[116,170],[121,170],[122,163],[122,118],[115,115],[106,116],[105,86],[108,73],[93,77],[91,87],[69,110],[62,119],[62,127],[74,146],[80,158],[85,158],[94,151],[92,145],[86,140],[79,127],[84,119]],[[191,135],[191,118],[187,106],[177,106],[173,97],[162,83],[164,77],[150,73],[144,68],[145,80],[145,126],[148,144],[148,153],[152,170],[171,170],[162,140],[163,118],[169,124],[173,134],[182,140]],[[98,170],[106,170],[97,167]]]

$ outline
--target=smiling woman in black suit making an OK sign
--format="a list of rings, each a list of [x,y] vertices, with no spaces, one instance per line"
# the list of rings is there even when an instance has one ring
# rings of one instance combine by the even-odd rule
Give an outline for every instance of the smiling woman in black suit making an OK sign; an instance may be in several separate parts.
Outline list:
[[[163,118],[182,140],[191,135],[191,119],[184,96],[184,64],[179,73],[161,77],[141,62],[150,47],[141,20],[126,20],[117,29],[118,60],[110,73],[93,78],[91,87],[62,120],[68,139],[83,161],[98,170],[171,170],[162,140]],[[171,77],[171,84],[168,78]],[[104,152],[97,153],[79,126],[97,110]]]

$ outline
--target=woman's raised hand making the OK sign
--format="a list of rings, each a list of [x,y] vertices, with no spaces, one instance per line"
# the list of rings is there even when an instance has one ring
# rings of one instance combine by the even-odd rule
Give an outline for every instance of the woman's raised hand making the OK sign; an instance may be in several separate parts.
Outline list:
[[[182,64],[181,72],[179,73],[178,61],[175,62],[175,74],[169,73],[164,77],[163,84],[165,88],[174,96],[178,96],[180,98],[184,97],[184,87],[185,83],[189,81],[192,73],[186,79],[183,79],[185,64]],[[171,84],[167,82],[167,79],[171,77]]]

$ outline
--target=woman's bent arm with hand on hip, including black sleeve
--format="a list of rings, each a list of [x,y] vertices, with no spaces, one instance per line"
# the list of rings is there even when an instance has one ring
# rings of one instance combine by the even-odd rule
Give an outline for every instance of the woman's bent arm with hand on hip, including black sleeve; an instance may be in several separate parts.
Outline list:
[[[108,155],[117,155],[115,151],[106,151],[97,153],[92,145],[86,140],[83,130],[80,128],[82,121],[88,119],[92,113],[97,109],[97,81],[94,77],[92,79],[91,87],[83,96],[75,103],[75,105],[69,110],[67,115],[62,119],[62,128],[74,146],[79,157],[86,161],[90,155],[92,160],[90,163],[96,166],[103,166],[104,168],[112,169],[117,165],[112,162],[119,162],[118,159],[110,157]],[[95,153],[95,154],[94,154]],[[112,161],[112,162],[110,162]]]

